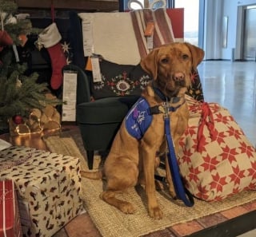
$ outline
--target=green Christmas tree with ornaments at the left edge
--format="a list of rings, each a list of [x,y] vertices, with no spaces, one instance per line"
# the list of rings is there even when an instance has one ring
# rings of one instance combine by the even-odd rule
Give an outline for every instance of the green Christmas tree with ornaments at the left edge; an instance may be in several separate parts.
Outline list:
[[[26,65],[19,63],[16,45],[24,45],[33,29],[29,19],[14,16],[17,10],[14,2],[0,0],[0,121],[4,123],[17,115],[28,117],[32,109],[61,104],[47,99],[47,84],[37,83],[37,73],[26,76]]]

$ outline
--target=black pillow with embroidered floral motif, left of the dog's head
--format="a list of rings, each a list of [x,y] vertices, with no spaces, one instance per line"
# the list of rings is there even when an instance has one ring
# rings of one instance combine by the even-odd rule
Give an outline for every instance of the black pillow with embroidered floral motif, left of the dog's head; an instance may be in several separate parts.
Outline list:
[[[140,95],[142,89],[151,81],[151,77],[141,65],[119,65],[99,59],[102,81],[92,82],[92,94],[95,100],[104,97]]]

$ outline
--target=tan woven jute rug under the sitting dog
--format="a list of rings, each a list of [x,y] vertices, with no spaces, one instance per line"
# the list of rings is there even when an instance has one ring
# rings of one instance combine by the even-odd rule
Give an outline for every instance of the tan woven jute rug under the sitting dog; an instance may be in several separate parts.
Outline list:
[[[79,157],[82,169],[87,170],[86,151],[78,131],[60,132],[55,136],[44,137],[44,140],[51,152]],[[100,164],[101,158],[95,156],[94,168],[98,168]],[[142,236],[256,199],[256,192],[242,192],[214,203],[195,199],[194,207],[185,207],[182,202],[170,199],[167,192],[158,192],[157,198],[163,211],[163,219],[155,220],[151,219],[146,211],[146,195],[142,187],[131,188],[126,194],[119,196],[121,199],[129,200],[136,207],[134,215],[125,215],[99,199],[103,186],[102,180],[82,178],[84,207],[104,237],[116,237],[120,236],[120,233],[122,233],[122,237]]]

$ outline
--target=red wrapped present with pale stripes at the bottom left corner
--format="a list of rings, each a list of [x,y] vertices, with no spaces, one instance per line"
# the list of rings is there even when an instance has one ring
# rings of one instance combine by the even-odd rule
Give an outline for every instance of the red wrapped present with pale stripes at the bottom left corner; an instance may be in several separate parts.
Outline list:
[[[18,202],[13,180],[0,181],[0,236],[22,236]]]

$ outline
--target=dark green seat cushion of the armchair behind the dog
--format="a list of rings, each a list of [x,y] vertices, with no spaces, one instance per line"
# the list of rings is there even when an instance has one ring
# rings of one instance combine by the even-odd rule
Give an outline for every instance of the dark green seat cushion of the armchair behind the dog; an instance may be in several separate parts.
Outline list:
[[[80,124],[109,124],[122,122],[132,105],[140,96],[108,97],[77,106]]]

